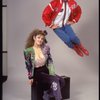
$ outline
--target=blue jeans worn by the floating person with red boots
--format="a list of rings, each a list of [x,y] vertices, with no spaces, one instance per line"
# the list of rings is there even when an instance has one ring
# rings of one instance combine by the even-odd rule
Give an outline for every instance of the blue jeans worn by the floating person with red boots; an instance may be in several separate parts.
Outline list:
[[[56,28],[53,31],[69,48],[73,48],[74,44],[80,44],[79,38],[76,36],[70,25]]]

